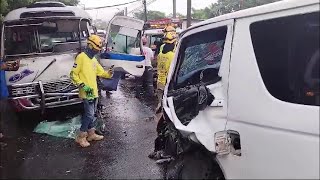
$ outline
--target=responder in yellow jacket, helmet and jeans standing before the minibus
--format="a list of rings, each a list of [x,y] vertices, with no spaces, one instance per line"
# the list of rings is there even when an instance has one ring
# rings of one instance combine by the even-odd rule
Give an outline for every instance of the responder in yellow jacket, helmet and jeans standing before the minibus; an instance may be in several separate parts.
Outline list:
[[[84,52],[76,57],[76,61],[70,72],[72,82],[79,87],[79,96],[83,99],[84,114],[81,119],[80,132],[76,137],[76,142],[81,147],[88,147],[88,141],[102,140],[103,136],[95,133],[93,120],[98,98],[97,76],[111,78],[113,71],[104,71],[98,63],[95,55],[102,48],[102,41],[99,36],[91,35],[87,40],[87,47]]]

